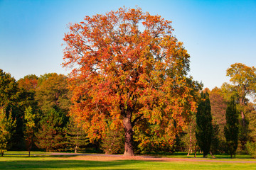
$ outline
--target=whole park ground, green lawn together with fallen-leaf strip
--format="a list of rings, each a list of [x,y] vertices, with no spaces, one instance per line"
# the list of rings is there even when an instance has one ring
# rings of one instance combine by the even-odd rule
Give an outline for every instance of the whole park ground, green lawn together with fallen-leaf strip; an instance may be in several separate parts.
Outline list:
[[[203,159],[186,157],[186,154],[175,155],[139,155],[122,157],[106,154],[70,154],[32,152],[6,152],[0,157],[0,169],[118,169],[118,170],[151,170],[151,169],[250,169],[256,170],[256,159],[248,155],[238,155],[235,159],[228,155],[216,155]]]

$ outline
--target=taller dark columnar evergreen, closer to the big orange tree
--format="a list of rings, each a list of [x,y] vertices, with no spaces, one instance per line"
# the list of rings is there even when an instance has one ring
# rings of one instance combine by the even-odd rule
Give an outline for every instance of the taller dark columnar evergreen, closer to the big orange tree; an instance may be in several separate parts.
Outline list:
[[[201,92],[201,101],[196,113],[196,140],[203,150],[203,157],[210,152],[210,142],[213,137],[212,115],[210,113],[210,99],[207,92]]]

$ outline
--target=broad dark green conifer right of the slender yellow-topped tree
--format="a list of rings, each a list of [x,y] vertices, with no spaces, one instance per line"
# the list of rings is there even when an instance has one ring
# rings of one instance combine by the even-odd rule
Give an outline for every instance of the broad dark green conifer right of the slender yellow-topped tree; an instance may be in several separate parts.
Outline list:
[[[51,108],[40,120],[36,132],[36,146],[46,151],[60,151],[65,147],[65,113],[58,108]]]

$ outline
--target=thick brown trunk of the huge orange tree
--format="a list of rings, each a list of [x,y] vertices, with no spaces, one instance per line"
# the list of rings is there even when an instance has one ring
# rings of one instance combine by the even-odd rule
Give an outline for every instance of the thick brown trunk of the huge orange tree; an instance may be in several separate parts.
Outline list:
[[[132,115],[124,118],[123,124],[124,124],[124,157],[132,157],[134,156]]]

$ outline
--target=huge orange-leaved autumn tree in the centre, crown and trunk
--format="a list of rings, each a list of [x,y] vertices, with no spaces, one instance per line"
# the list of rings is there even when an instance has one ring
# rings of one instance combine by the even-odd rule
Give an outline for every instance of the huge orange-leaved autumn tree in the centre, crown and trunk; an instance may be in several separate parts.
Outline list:
[[[144,120],[154,125],[151,135],[171,145],[196,109],[199,86],[187,77],[190,56],[172,35],[171,21],[141,8],[119,8],[69,28],[63,66],[73,69],[70,113],[90,140],[104,137],[111,120],[117,129],[123,126],[124,156],[132,156],[134,128],[143,129]]]

